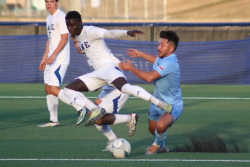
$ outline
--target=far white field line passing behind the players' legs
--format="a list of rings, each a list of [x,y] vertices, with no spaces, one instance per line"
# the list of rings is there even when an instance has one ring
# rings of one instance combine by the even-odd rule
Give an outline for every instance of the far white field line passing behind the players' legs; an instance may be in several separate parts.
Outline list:
[[[0,96],[0,99],[44,99],[45,96]],[[87,97],[89,99],[95,99],[97,97]],[[130,97],[136,98],[136,97]],[[250,100],[250,98],[240,97],[183,97],[186,100]]]

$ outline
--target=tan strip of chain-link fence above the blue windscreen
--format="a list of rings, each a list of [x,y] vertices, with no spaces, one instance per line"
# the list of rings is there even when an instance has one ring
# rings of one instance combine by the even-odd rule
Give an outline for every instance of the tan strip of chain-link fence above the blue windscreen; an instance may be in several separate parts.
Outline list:
[[[157,41],[162,30],[174,30],[181,42],[226,41],[246,39],[250,34],[248,23],[84,23],[106,29],[138,29],[144,35],[122,40]],[[45,35],[45,22],[0,22],[0,36]]]

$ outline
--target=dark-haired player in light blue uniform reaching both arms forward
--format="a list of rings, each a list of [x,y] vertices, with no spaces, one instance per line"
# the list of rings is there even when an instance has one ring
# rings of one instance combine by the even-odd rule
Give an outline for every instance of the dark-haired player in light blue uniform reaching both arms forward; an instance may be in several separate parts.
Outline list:
[[[127,53],[130,57],[142,57],[150,63],[154,63],[152,71],[139,70],[129,60],[119,64],[119,68],[132,72],[142,80],[154,81],[154,96],[172,105],[172,111],[168,113],[155,104],[151,104],[148,115],[148,130],[155,139],[153,144],[147,148],[147,155],[169,152],[168,148],[165,147],[168,128],[183,112],[179,61],[174,53],[178,43],[179,37],[174,31],[161,31],[158,56],[149,55],[136,49],[128,50]]]

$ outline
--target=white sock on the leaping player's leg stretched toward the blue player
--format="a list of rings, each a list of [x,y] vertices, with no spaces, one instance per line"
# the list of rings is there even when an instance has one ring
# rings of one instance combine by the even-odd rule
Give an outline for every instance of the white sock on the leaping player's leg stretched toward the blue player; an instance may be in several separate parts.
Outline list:
[[[129,94],[129,95],[133,95],[135,97],[141,98],[143,100],[146,101],[150,101],[151,103],[155,104],[156,106],[158,106],[160,100],[155,98],[153,95],[151,95],[150,93],[148,93],[145,89],[136,86],[136,85],[130,85],[129,83],[123,85],[122,87],[122,92]]]

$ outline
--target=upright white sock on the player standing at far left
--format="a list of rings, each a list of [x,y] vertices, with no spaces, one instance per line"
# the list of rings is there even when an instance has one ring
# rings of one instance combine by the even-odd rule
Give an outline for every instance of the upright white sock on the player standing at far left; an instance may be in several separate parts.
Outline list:
[[[58,97],[47,95],[47,106],[50,113],[50,121],[58,122]]]

